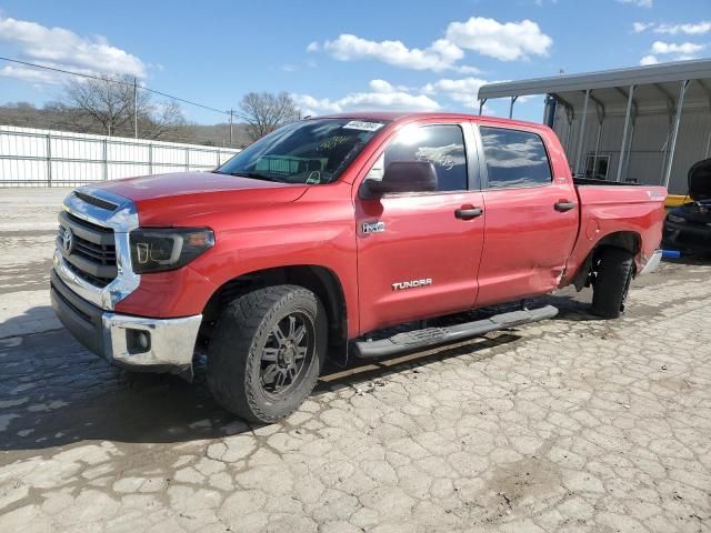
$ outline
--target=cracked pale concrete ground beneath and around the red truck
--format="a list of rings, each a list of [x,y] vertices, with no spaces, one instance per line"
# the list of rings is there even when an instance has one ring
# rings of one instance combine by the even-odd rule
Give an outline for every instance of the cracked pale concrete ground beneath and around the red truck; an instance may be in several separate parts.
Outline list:
[[[563,291],[552,321],[329,369],[249,426],[203,364],[132,375],[57,329],[62,195],[0,190],[1,532],[711,531],[710,263],[637,280],[619,321]]]

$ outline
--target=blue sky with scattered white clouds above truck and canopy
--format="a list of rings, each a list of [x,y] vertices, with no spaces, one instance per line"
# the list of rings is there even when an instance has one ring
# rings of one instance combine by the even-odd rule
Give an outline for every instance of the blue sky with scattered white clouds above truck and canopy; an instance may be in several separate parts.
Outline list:
[[[473,111],[489,81],[709,57],[711,2],[0,0],[0,56],[127,72],[219,109],[250,91],[288,91],[308,113]],[[57,99],[63,79],[0,61],[0,102]],[[515,117],[540,120],[541,102],[517,103]]]

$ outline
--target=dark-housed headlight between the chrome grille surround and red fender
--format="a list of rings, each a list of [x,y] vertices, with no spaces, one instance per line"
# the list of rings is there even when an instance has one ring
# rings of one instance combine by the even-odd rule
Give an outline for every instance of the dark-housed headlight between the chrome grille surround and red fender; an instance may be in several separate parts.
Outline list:
[[[161,272],[184,266],[214,247],[208,229],[138,229],[130,235],[133,272]]]

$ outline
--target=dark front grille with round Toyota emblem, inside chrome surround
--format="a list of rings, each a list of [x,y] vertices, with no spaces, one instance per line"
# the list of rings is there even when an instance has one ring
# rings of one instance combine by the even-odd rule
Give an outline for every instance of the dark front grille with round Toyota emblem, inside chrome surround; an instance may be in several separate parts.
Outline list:
[[[113,230],[69,212],[59,214],[57,249],[67,266],[92,285],[103,288],[118,275]]]

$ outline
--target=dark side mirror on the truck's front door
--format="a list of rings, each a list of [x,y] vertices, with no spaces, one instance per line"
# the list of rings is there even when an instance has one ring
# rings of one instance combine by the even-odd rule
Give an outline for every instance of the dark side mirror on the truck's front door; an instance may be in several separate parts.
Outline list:
[[[428,161],[393,161],[388,165],[382,180],[363,182],[365,198],[380,198],[389,192],[437,191],[437,170]]]

